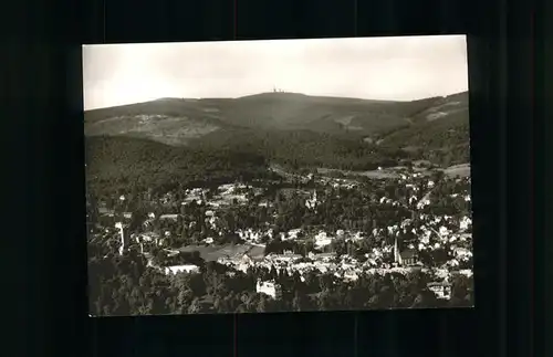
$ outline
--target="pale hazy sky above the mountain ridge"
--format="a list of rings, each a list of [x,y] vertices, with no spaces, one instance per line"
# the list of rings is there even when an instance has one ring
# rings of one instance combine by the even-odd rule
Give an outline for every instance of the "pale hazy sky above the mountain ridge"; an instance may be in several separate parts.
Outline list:
[[[468,91],[465,35],[83,46],[84,109],[163,97],[414,101]]]

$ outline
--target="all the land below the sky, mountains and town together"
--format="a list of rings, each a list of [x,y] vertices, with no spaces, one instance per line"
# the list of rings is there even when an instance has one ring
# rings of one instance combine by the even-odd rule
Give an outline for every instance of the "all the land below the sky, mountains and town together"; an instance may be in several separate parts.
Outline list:
[[[467,101],[262,93],[85,113],[91,311],[472,306]]]

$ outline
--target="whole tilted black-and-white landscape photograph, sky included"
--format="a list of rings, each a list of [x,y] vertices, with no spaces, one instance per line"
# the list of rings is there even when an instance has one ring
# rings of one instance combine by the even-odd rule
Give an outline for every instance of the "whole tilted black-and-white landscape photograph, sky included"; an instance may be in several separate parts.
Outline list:
[[[90,314],[472,307],[466,36],[83,46]]]

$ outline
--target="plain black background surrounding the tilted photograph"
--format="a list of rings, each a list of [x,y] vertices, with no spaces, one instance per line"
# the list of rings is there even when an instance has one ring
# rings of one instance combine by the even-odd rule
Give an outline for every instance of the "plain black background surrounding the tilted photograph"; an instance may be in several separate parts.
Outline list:
[[[19,338],[0,354],[546,355],[533,338],[546,180],[534,153],[545,109],[534,106],[543,49],[532,1],[53,0],[3,14],[2,240],[14,246],[3,251],[2,305],[14,318],[4,337]],[[82,43],[450,33],[469,40],[474,309],[87,317]]]

